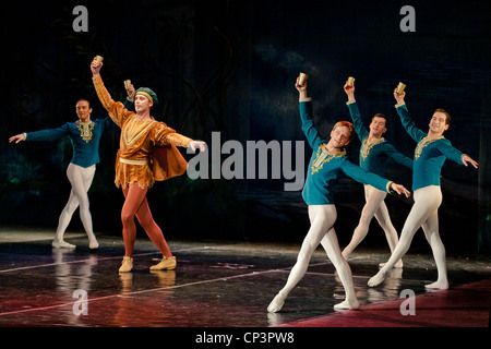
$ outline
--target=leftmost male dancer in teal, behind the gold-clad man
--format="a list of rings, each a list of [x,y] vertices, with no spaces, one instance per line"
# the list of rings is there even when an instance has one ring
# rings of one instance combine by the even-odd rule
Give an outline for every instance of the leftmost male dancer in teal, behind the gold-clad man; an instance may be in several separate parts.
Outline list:
[[[127,89],[128,99],[124,104],[131,106],[134,87],[130,85]],[[56,249],[74,249],[75,245],[63,240],[67,227],[72,219],[73,213],[80,207],[80,218],[88,237],[88,246],[97,249],[99,243],[94,234],[92,215],[88,203],[88,189],[94,179],[96,164],[99,163],[99,141],[103,132],[111,124],[109,117],[105,119],[91,119],[92,108],[87,99],[80,99],[75,105],[79,117],[76,122],[67,122],[60,128],[48,129],[36,132],[27,132],[14,135],[9,142],[22,141],[55,141],[69,136],[72,143],[73,157],[67,168],[67,177],[72,185],[70,197],[58,219],[58,228],[51,245]]]

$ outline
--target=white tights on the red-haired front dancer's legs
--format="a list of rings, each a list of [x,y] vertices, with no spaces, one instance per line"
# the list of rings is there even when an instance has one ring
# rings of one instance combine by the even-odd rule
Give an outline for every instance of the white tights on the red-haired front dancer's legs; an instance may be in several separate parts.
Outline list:
[[[297,263],[291,268],[285,287],[273,299],[267,311],[271,313],[282,310],[285,299],[294,287],[302,279],[309,267],[309,262],[315,249],[322,243],[327,253],[327,257],[334,264],[346,291],[344,302],[336,304],[335,309],[358,309],[359,303],[355,294],[351,269],[343,257],[336,232],[333,225],[336,221],[337,213],[334,205],[311,205],[309,206],[310,229],[303,239]]]

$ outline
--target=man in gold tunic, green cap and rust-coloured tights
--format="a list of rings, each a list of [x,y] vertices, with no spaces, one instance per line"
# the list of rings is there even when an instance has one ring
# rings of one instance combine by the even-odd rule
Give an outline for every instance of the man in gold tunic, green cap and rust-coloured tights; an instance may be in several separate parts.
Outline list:
[[[161,261],[151,269],[173,269],[177,264],[176,257],[152,217],[146,192],[156,180],[163,181],[185,172],[188,164],[176,146],[190,147],[193,151],[200,148],[204,152],[206,144],[177,133],[164,122],[157,122],[151,116],[151,108],[158,104],[157,95],[147,87],[140,87],[135,92],[136,112],[129,111],[121,103],[112,100],[99,74],[103,65],[96,59],[91,63],[94,86],[109,117],[121,128],[115,180],[116,185],[121,186],[124,194],[121,210],[124,257],[119,272],[127,273],[133,268],[133,249],[136,239],[135,216],[163,254]],[[164,155],[165,160],[159,158],[158,154]]]

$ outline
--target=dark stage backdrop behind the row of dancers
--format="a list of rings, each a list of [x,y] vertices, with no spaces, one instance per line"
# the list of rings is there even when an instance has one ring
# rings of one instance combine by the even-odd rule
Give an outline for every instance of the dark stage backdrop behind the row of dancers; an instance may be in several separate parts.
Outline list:
[[[209,146],[212,132],[219,132],[220,144],[238,141],[243,149],[247,141],[304,141],[294,87],[302,71],[310,75],[315,123],[323,134],[335,121],[349,119],[343,85],[352,75],[364,121],[376,112],[388,116],[386,139],[412,157],[416,144],[400,125],[392,95],[404,82],[417,125],[427,131],[433,110],[445,108],[453,118],[446,137],[480,161],[479,171],[444,165],[440,225],[447,252],[489,253],[489,3],[16,1],[1,14],[0,222],[56,229],[70,191],[70,141],[13,145],[8,137],[75,121],[81,97],[91,99],[93,119],[107,117],[89,71],[100,55],[101,76],[115,99],[124,98],[122,82],[131,79],[157,93],[156,119]],[[400,27],[409,19],[400,14],[407,4],[415,10],[415,32]],[[75,5],[87,10],[87,32],[73,28],[80,20]],[[121,230],[122,194],[113,185],[118,142],[117,128],[101,140],[89,191],[96,233]],[[303,173],[311,155],[304,146]],[[356,164],[359,147],[358,140],[348,146]],[[229,156],[223,154],[218,164]],[[272,170],[268,179],[191,180],[184,174],[158,182],[148,194],[151,208],[168,238],[299,242],[309,228],[307,206],[300,191],[284,190],[292,180],[272,179]],[[398,166],[388,168],[387,178],[411,185],[410,173]],[[362,184],[343,179],[336,201],[344,246],[364,204]],[[397,230],[411,202],[387,197]],[[82,229],[77,213],[70,229]],[[376,222],[362,244],[386,248]],[[418,245],[429,251],[421,232]]]

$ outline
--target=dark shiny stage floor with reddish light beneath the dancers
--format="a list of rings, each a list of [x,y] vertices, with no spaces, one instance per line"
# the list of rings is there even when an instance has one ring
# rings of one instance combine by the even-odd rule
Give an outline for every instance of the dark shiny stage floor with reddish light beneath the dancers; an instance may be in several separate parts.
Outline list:
[[[139,232],[140,234],[140,232]],[[75,250],[52,249],[53,232],[0,228],[0,326],[49,327],[488,327],[491,266],[484,256],[448,256],[451,289],[426,292],[436,276],[431,254],[411,254],[378,288],[368,279],[387,251],[355,251],[349,264],[359,311],[335,312],[344,289],[318,249],[307,275],[282,312],[266,308],[285,285],[298,244],[169,240],[176,270],[151,272],[160,254],[140,234],[132,273],[119,274],[122,239],[98,236],[91,251],[84,233],[67,233]],[[450,254],[447,252],[447,254]],[[409,290],[416,315],[402,314]]]

